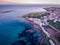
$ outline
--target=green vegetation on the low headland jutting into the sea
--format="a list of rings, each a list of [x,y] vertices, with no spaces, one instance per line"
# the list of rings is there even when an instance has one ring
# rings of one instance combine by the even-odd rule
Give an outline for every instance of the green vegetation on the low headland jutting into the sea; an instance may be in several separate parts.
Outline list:
[[[29,13],[29,14],[26,14],[22,17],[33,17],[33,18],[40,18],[40,17],[43,17],[43,16],[47,16],[49,15],[49,13],[43,13],[43,12],[36,12],[36,13]]]

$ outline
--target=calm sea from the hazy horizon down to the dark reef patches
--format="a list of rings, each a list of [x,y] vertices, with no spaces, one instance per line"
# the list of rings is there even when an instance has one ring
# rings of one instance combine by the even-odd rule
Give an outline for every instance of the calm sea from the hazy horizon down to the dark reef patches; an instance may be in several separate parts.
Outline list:
[[[59,5],[0,5],[0,45],[11,45],[18,40],[18,33],[24,31],[30,24],[18,18],[27,13],[40,12],[41,8],[59,7]],[[5,11],[9,11],[4,13]]]

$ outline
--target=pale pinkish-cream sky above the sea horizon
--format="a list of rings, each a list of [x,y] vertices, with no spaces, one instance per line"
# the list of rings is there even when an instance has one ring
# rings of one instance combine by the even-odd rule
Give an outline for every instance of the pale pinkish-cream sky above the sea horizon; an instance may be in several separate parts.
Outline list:
[[[0,4],[60,4],[60,0],[0,0]]]

